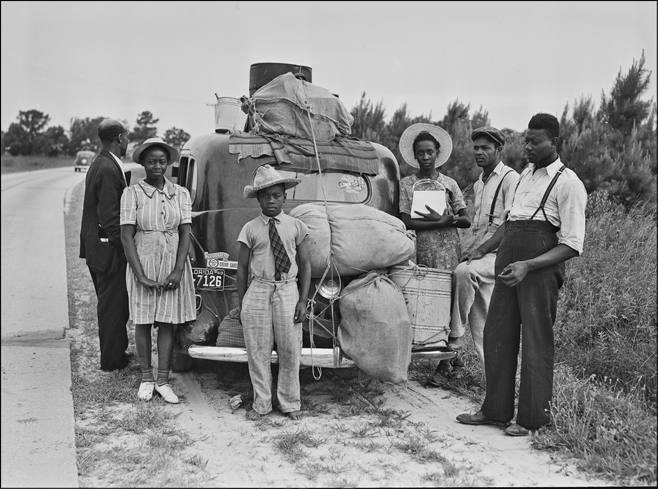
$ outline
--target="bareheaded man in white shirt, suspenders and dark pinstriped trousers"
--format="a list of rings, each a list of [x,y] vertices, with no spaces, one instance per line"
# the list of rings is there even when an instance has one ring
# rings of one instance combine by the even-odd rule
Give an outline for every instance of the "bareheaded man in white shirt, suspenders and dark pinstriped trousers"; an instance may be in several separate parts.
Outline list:
[[[484,326],[487,392],[480,411],[461,414],[467,425],[505,424],[515,411],[519,342],[521,377],[516,423],[506,434],[526,436],[549,421],[553,394],[553,324],[565,262],[582,253],[587,193],[557,154],[559,122],[536,114],[525,135],[528,166],[520,175],[499,243],[495,285]]]

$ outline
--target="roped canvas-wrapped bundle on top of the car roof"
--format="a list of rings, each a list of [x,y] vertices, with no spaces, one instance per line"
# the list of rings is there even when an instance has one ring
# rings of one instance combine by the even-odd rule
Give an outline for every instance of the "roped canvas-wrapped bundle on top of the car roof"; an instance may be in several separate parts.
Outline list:
[[[277,76],[246,101],[256,133],[288,134],[328,142],[351,134],[354,118],[326,88],[298,80],[291,73]],[[310,116],[310,119],[309,119]]]

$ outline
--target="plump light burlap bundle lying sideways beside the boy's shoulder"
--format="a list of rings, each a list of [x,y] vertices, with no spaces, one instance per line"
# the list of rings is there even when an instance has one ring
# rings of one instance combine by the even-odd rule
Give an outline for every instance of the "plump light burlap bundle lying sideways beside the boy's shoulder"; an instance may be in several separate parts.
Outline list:
[[[388,268],[416,255],[415,242],[404,223],[365,204],[327,204],[325,208],[322,202],[310,202],[295,207],[290,216],[309,227],[313,277],[322,277],[331,251],[336,266],[333,273],[339,275]]]

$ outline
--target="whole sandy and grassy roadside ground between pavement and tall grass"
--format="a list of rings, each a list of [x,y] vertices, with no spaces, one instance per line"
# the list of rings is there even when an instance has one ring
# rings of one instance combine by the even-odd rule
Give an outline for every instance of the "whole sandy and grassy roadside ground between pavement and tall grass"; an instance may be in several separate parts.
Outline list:
[[[139,401],[139,371],[97,370],[95,297],[76,253],[82,187],[69,198],[67,336],[76,358],[81,487],[606,485],[534,450],[529,437],[457,423],[457,414],[478,406],[453,390],[425,387],[426,369],[411,368],[403,385],[356,369],[324,369],[316,380],[303,369],[297,422],[276,409],[259,421],[245,418],[251,394],[244,363],[205,361],[172,373],[180,404]],[[238,395],[241,404],[232,404]]]

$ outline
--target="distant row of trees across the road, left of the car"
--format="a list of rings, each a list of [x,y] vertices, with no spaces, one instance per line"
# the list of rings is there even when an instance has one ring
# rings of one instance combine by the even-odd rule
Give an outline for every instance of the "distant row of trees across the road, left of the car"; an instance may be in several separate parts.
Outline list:
[[[67,131],[62,126],[47,128],[50,116],[39,110],[19,110],[16,122],[9,125],[6,133],[2,133],[2,148],[12,156],[74,156],[76,152],[83,150],[98,152],[101,149],[101,141],[98,139],[97,129],[104,119],[105,117],[75,117],[71,119]],[[157,137],[158,121],[148,110],[141,112],[130,132],[130,140],[141,142],[149,137]],[[128,126],[127,121],[122,122]],[[181,148],[190,139],[190,134],[183,129],[172,127],[164,131],[163,139],[166,143]]]

